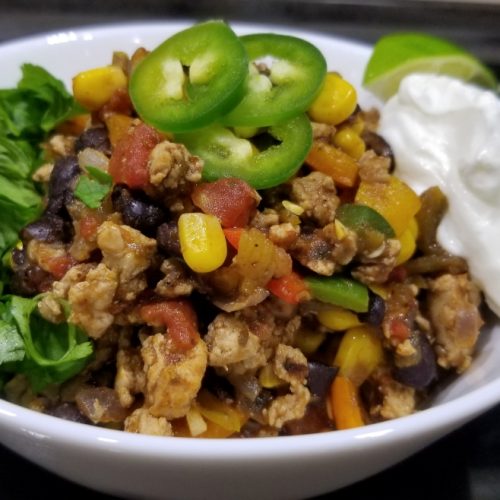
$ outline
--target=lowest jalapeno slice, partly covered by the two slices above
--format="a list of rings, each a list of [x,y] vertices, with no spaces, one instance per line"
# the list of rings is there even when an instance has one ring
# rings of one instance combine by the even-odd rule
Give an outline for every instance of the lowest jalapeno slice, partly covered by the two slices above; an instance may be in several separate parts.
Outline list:
[[[309,119],[301,114],[250,140],[219,124],[175,138],[204,160],[205,180],[238,177],[255,189],[265,189],[297,172],[311,148],[312,129]]]

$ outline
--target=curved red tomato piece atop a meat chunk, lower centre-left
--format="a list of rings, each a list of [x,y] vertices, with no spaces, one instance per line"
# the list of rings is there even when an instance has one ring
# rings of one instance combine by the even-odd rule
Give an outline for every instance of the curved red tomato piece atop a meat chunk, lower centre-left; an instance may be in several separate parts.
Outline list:
[[[153,302],[142,306],[140,315],[148,325],[165,326],[179,351],[188,351],[200,338],[196,313],[187,300]]]

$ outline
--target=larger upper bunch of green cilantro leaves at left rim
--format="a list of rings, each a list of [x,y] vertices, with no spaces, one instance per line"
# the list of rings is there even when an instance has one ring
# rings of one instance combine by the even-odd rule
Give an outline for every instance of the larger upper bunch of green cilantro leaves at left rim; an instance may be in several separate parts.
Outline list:
[[[40,142],[82,112],[64,84],[45,69],[33,64],[21,69],[16,88],[0,89],[0,256],[41,212],[42,198],[31,179],[41,161]]]

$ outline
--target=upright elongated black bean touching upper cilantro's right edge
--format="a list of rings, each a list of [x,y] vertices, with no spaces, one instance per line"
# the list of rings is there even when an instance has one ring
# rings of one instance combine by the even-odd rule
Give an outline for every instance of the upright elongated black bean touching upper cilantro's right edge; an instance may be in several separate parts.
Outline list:
[[[65,156],[56,161],[49,180],[46,212],[57,214],[73,200],[73,190],[80,172],[76,156]]]

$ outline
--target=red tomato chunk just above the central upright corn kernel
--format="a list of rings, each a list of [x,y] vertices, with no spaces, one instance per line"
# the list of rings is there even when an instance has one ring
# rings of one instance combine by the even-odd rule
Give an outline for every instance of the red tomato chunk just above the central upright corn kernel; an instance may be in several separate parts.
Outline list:
[[[233,177],[198,184],[191,199],[203,212],[215,215],[222,227],[246,226],[258,200],[253,188]]]

